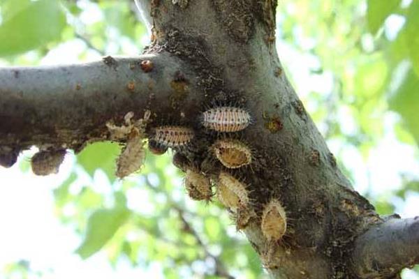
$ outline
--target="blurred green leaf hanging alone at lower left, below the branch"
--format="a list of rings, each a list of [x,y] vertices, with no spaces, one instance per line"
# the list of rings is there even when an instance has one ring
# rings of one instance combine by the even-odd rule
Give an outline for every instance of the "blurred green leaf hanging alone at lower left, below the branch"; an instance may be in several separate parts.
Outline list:
[[[95,211],[88,220],[86,236],[75,252],[86,259],[101,250],[119,227],[124,225],[129,215],[130,211],[120,206]]]

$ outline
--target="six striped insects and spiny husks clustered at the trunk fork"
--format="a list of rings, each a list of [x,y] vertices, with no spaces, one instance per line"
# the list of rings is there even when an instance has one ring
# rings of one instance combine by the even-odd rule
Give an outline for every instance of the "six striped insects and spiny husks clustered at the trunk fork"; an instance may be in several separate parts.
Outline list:
[[[203,112],[201,124],[213,130],[219,137],[211,146],[212,155],[219,160],[225,170],[219,172],[211,181],[199,169],[189,167],[185,170],[185,188],[191,199],[212,199],[212,182],[216,185],[216,196],[221,204],[234,214],[237,229],[247,227],[249,220],[256,217],[251,208],[249,186],[235,178],[228,169],[238,169],[252,163],[251,148],[240,140],[226,137],[227,133],[236,133],[247,128],[251,123],[249,112],[238,107],[214,107]],[[193,129],[184,126],[159,126],[154,129],[149,140],[149,149],[153,153],[164,153],[169,147],[184,149],[195,137]],[[260,229],[268,241],[280,241],[286,233],[286,211],[278,199],[268,202],[261,216]]]

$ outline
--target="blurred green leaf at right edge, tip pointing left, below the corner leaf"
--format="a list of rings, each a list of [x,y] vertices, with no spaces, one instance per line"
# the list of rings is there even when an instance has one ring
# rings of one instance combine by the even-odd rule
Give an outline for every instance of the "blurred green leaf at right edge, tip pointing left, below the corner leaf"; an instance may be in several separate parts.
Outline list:
[[[402,116],[406,129],[419,144],[419,77],[410,70],[397,92],[388,101],[390,109]]]

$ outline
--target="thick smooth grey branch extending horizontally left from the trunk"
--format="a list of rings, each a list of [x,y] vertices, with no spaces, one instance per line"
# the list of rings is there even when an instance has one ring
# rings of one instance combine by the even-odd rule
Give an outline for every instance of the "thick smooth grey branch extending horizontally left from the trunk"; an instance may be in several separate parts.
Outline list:
[[[145,60],[152,64],[147,70],[141,66]],[[135,119],[146,109],[170,112],[179,106],[179,88],[189,92],[193,75],[165,52],[66,66],[0,68],[0,151],[43,144],[77,151],[86,140],[106,140],[105,123],[122,122],[127,112],[134,112]]]

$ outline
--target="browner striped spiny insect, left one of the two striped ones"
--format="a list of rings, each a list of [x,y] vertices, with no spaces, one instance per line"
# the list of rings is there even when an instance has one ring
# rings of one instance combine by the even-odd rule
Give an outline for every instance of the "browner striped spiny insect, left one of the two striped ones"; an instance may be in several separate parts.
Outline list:
[[[191,128],[184,126],[159,126],[154,129],[154,136],[151,140],[154,140],[161,146],[167,146],[171,148],[182,148],[189,144],[195,133]]]

